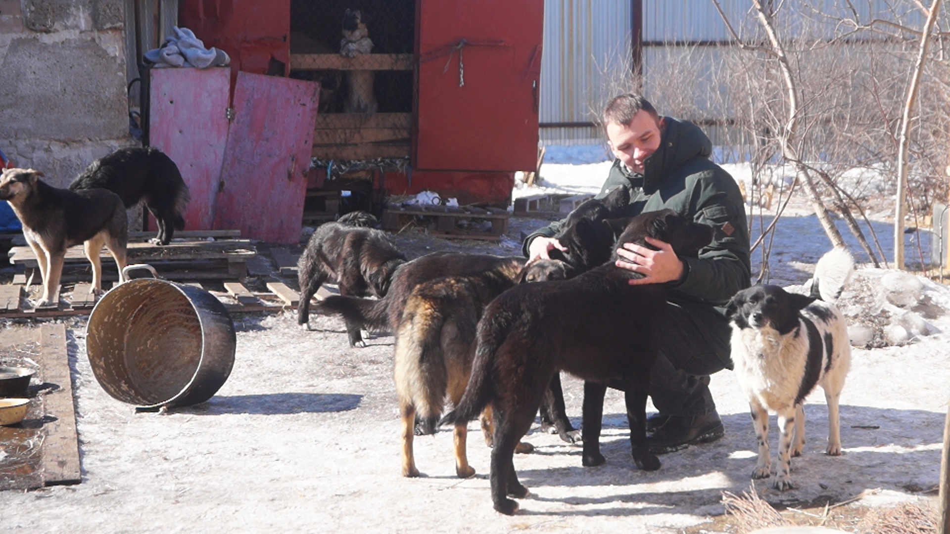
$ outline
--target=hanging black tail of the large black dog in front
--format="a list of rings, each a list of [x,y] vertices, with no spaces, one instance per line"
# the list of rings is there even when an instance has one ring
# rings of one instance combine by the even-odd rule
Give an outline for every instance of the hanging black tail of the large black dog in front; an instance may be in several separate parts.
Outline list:
[[[439,421],[440,426],[455,425],[475,419],[495,397],[495,378],[492,376],[495,368],[495,354],[504,343],[508,324],[506,319],[510,317],[504,313],[494,313],[490,309],[485,310],[483,317],[485,320],[478,323],[478,345],[475,349],[475,359],[472,361],[472,372],[468,377],[466,392],[455,410],[449,411]]]

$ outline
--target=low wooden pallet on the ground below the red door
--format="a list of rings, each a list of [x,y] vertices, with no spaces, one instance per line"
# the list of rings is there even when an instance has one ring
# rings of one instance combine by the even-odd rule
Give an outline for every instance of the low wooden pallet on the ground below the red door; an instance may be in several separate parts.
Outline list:
[[[435,219],[435,227],[429,231],[441,238],[499,240],[508,229],[509,214],[501,208],[478,208],[474,206],[394,206],[383,211],[383,228],[400,230],[411,218]],[[471,230],[466,223],[491,223],[488,231]]]

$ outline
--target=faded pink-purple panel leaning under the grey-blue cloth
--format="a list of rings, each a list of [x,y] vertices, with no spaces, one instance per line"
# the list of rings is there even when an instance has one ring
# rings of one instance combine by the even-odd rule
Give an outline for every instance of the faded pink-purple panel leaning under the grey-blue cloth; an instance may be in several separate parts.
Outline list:
[[[184,213],[188,230],[214,228],[218,177],[228,137],[231,69],[153,68],[149,144],[178,163],[191,190]],[[150,228],[155,228],[154,220]]]

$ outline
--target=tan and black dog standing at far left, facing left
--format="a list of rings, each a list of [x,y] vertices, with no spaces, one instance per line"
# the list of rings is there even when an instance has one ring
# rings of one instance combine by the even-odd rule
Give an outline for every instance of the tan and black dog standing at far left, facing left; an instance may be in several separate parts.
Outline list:
[[[66,249],[85,244],[85,257],[92,263],[92,286],[103,291],[103,245],[115,258],[119,281],[123,281],[128,220],[122,199],[107,189],[69,191],[40,180],[33,169],[6,169],[0,176],[0,200],[10,202],[23,223],[23,236],[40,264],[43,296],[38,306],[55,305],[53,297],[63,274]]]

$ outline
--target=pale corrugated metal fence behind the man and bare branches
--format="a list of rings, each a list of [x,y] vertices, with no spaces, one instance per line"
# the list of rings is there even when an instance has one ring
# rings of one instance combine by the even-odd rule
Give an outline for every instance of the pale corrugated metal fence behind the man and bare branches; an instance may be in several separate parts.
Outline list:
[[[607,99],[632,88],[633,4],[630,0],[545,0],[542,143],[592,143],[601,139],[599,128],[578,127],[578,124],[596,121]],[[851,4],[864,21],[903,19],[911,27],[920,27],[925,19],[920,8],[911,1],[867,0]],[[741,38],[753,39],[760,31],[749,0],[719,0],[719,5]],[[806,5],[812,10],[807,11]],[[678,111],[671,114],[698,121],[726,118],[728,103],[712,102],[708,98],[708,95],[722,94],[716,87],[716,66],[722,54],[748,52],[728,45],[731,34],[712,1],[644,0],[642,6],[644,94],[661,113],[675,109]],[[841,0],[812,0],[796,9],[789,10],[787,6],[780,12],[781,34],[801,35],[805,21],[809,21],[811,32],[826,32],[831,36],[836,22],[819,12],[849,16]],[[862,37],[871,35],[864,32]],[[697,43],[701,46],[696,46]],[[689,93],[691,96],[687,98],[692,99],[691,102],[667,102],[664,93],[669,94],[669,91],[658,90],[668,83],[664,70],[671,65],[695,69],[695,79],[680,91]],[[726,128],[711,125],[704,129],[713,143],[725,143]]]

